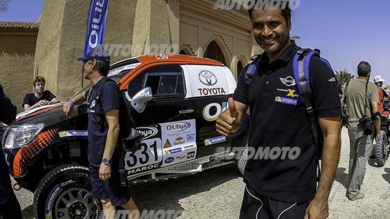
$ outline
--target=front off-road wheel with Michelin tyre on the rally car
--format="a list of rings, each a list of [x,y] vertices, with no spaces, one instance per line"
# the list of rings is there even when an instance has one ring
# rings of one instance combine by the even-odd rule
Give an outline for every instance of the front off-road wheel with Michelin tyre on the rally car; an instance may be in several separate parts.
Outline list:
[[[34,193],[38,219],[97,219],[101,209],[100,201],[92,198],[88,168],[81,165],[66,164],[50,170]]]

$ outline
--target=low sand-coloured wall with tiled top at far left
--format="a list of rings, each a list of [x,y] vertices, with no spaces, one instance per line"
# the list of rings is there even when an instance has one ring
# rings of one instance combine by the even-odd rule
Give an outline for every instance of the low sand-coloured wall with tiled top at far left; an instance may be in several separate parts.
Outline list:
[[[35,48],[39,23],[0,22],[0,84],[22,110],[26,92],[33,92]]]

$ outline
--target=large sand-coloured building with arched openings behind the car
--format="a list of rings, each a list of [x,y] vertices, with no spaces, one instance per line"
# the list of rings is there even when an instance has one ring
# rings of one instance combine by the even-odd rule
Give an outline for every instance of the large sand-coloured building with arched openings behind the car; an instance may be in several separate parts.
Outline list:
[[[152,45],[176,45],[176,53],[218,60],[237,76],[251,55],[261,53],[261,49],[254,41],[246,10],[214,10],[214,3],[215,0],[111,0],[105,47],[110,51],[117,45],[132,45],[131,52],[111,54],[112,62],[153,53],[156,50]],[[82,64],[76,58],[83,52],[89,4],[89,0],[45,0],[35,59],[32,57],[34,67],[30,61],[30,71],[19,77],[31,81],[35,75],[44,76],[47,89],[61,101],[88,83],[82,79]],[[137,49],[140,47],[144,50]],[[13,91],[12,86],[7,89]],[[27,91],[31,92],[32,87],[18,90]]]

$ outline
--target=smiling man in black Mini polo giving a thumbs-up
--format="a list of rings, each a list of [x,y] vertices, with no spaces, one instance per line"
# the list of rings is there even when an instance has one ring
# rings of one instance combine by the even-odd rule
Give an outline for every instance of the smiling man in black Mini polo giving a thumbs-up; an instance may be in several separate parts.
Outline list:
[[[217,119],[216,129],[230,135],[250,107],[250,147],[256,152],[268,151],[267,147],[299,148],[297,157],[248,160],[240,219],[325,219],[340,156],[340,99],[332,71],[313,56],[309,67],[312,105],[325,136],[317,187],[311,124],[293,79],[293,56],[300,47],[290,40],[289,4],[281,7],[249,10],[254,38],[264,53],[249,86],[244,79],[248,66],[241,72],[234,98],[228,99],[229,109]],[[280,97],[289,101],[279,101]]]

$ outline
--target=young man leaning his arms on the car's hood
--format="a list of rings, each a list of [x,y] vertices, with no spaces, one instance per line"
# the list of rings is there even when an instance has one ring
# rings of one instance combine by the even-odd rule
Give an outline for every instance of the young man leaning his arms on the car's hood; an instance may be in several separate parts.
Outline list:
[[[34,79],[34,93],[27,93],[23,99],[22,107],[24,110],[32,110],[40,106],[59,102],[52,92],[45,91],[45,83],[45,78],[42,76]]]

